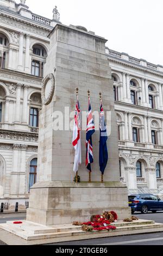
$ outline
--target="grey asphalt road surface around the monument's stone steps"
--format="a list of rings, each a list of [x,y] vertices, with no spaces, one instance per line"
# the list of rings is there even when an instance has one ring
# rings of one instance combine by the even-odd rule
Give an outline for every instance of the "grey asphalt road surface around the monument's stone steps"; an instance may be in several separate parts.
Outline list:
[[[153,220],[157,223],[163,223],[163,211],[153,214],[134,214],[143,220]],[[0,214],[0,223],[6,221],[26,220],[26,213],[23,214]],[[5,245],[0,241],[0,245]],[[53,245],[163,245],[163,232],[140,235],[127,235],[117,237],[105,237],[100,239],[60,242]]]

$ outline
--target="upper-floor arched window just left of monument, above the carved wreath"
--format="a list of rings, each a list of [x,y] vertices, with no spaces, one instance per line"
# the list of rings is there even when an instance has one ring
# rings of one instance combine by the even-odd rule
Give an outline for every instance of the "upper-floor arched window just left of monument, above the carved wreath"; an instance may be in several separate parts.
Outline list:
[[[34,45],[32,52],[32,75],[43,77],[43,65],[46,62],[47,52],[41,45]]]

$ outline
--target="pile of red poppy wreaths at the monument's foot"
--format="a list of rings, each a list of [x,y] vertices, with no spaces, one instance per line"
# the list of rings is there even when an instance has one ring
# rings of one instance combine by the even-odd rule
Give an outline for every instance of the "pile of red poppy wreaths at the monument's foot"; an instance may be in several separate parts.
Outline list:
[[[93,230],[110,230],[116,229],[115,226],[110,225],[116,222],[118,216],[114,211],[105,211],[102,215],[92,215],[89,222],[78,222],[74,221],[73,225],[82,225],[83,231],[93,231]]]

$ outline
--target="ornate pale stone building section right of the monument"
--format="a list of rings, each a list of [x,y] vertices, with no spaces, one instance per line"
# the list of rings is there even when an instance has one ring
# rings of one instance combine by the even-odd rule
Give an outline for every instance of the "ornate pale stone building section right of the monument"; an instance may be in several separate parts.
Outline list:
[[[106,48],[117,112],[121,180],[163,196],[163,66]]]

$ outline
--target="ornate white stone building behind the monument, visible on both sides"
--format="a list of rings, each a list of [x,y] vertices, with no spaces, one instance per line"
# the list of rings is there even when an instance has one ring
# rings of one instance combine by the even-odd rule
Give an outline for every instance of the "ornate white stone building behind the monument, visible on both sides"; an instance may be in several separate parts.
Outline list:
[[[43,68],[53,19],[0,0],[0,203],[25,207],[36,182]],[[112,69],[121,181],[163,196],[163,67],[106,48]]]

